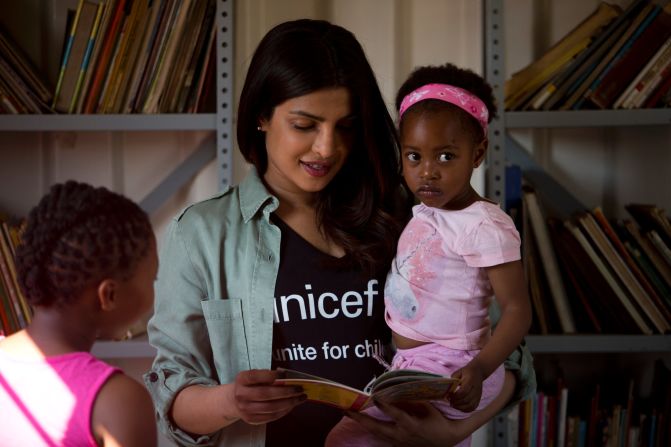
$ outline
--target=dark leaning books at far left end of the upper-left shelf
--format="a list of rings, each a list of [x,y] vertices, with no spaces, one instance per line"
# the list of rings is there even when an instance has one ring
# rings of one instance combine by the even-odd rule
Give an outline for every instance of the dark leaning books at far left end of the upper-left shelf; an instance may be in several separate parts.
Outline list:
[[[0,113],[50,113],[52,97],[30,59],[0,28]]]

